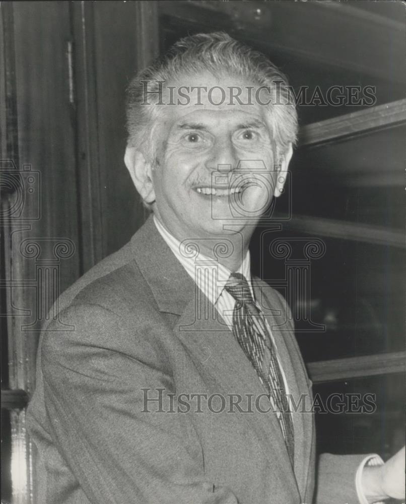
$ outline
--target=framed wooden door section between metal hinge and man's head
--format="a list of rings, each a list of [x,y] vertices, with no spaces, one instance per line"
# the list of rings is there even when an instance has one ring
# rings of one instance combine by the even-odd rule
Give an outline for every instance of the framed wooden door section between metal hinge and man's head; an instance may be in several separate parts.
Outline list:
[[[80,172],[86,270],[93,261],[88,259],[92,253],[86,256],[89,247],[97,246],[93,251],[97,262],[128,241],[145,219],[123,162],[125,90],[134,73],[157,54],[158,20],[155,2],[83,2],[73,4],[73,9],[78,162],[80,166],[88,163]],[[154,34],[150,31],[153,26]],[[84,117],[84,107],[88,118]],[[90,214],[93,230],[86,225]],[[87,233],[98,234],[101,245],[97,245],[96,238],[92,245]]]

